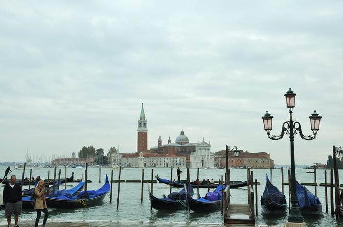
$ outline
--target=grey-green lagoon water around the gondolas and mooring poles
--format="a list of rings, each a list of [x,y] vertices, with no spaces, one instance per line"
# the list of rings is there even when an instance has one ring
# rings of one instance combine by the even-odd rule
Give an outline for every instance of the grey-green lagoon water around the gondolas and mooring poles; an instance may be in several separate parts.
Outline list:
[[[0,167],[0,174],[5,172],[5,167]],[[61,168],[61,177],[64,178],[64,168]],[[263,193],[265,187],[265,175],[266,173],[270,178],[269,169],[251,169],[254,174],[254,180],[257,179],[261,182],[258,185],[258,199]],[[53,177],[53,168],[34,168],[32,169],[32,175],[40,175],[42,178],[48,177],[48,171],[50,171],[50,178]],[[84,175],[85,168],[67,168],[67,177],[71,175],[74,171],[75,178],[81,179]],[[186,178],[186,169],[182,169],[181,179]],[[314,174],[306,173],[306,169],[296,169],[296,179],[298,182],[314,182]],[[26,170],[26,176],[29,176],[30,170]],[[118,179],[119,169],[113,171],[113,179]],[[340,172],[340,182],[343,183],[343,171]],[[21,179],[22,169],[12,169],[12,173]],[[105,182],[105,175],[108,174],[110,179],[111,169],[102,168],[101,169],[101,183],[98,183],[99,179],[99,168],[88,168],[88,179],[92,180],[92,183],[88,184],[89,190],[95,190],[100,188]],[[158,174],[161,178],[170,179],[170,169],[166,168],[154,168],[154,176]],[[196,179],[197,169],[190,169],[191,180]],[[215,179],[219,180],[221,175],[225,174],[225,169],[200,169],[199,178],[201,179]],[[145,179],[151,179],[151,169],[144,169]],[[174,169],[173,175],[176,176],[176,169]],[[281,191],[281,170],[273,170],[273,184],[277,186]],[[2,176],[0,176],[2,177]],[[246,180],[247,174],[246,169],[231,169],[230,180]],[[121,179],[142,179],[142,169],[141,168],[124,168],[121,173]],[[155,179],[155,178],[154,178]],[[284,181],[288,181],[287,170],[284,169]],[[330,182],[330,171],[327,170],[327,181]],[[324,183],[324,170],[317,170],[317,183]],[[71,188],[76,183],[67,183],[67,188]],[[1,186],[2,187],[2,186]],[[27,188],[28,186],[26,186]],[[169,194],[169,187],[165,184],[154,184],[154,195],[157,197],[162,197],[164,194]],[[314,193],[314,186],[306,186],[311,192]],[[64,185],[63,185],[64,188]],[[179,191],[178,188],[173,188],[172,191]],[[254,186],[255,190],[255,186]],[[207,189],[199,189],[200,195],[204,196]],[[190,222],[207,222],[207,223],[222,223],[223,218],[221,212],[214,212],[209,214],[199,214],[193,211],[186,212],[185,210],[180,210],[177,212],[161,212],[157,210],[150,211],[150,201],[148,194],[147,183],[144,184],[144,194],[143,194],[143,204],[141,204],[141,183],[121,183],[120,184],[120,198],[119,198],[119,211],[116,210],[117,206],[117,192],[118,183],[113,183],[113,197],[112,204],[109,203],[109,194],[104,199],[104,203],[101,206],[89,207],[85,209],[54,209],[49,208],[50,216],[53,219],[85,219],[85,220],[144,220],[144,221],[184,221],[186,223]],[[196,189],[194,190],[196,196]],[[247,203],[247,190],[246,188],[231,189],[230,193],[231,203],[233,204],[246,204]],[[286,195],[287,203],[288,199],[288,186],[284,186],[284,193]],[[2,194],[2,189],[0,189],[0,194]],[[323,205],[323,214],[318,217],[304,217],[307,226],[343,226],[343,224],[337,223],[335,218],[331,216],[330,210],[330,188],[328,188],[328,209],[329,213],[325,213],[325,187],[317,187],[317,196]],[[267,216],[261,213],[262,209],[260,206],[260,201],[258,201],[258,216],[256,217],[256,224],[267,224],[267,225],[283,225],[287,220],[287,215],[285,216]],[[36,217],[36,213],[33,210],[24,210],[21,218],[22,219],[33,219]],[[5,219],[4,213],[0,213],[0,218]]]

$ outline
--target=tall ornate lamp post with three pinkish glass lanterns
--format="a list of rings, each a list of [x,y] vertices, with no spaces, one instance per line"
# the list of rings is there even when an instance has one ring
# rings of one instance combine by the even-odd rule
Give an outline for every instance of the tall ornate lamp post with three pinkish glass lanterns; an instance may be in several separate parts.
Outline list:
[[[296,197],[296,178],[295,178],[295,161],[294,161],[294,134],[299,134],[299,136],[304,140],[313,140],[316,138],[317,132],[319,130],[319,124],[321,123],[321,116],[317,114],[316,111],[309,116],[311,122],[311,130],[313,131],[313,136],[305,136],[302,132],[301,125],[297,121],[293,121],[292,113],[293,108],[295,107],[295,96],[296,94],[289,88],[289,91],[286,92],[286,104],[289,110],[289,121],[286,121],[282,124],[281,134],[279,136],[270,135],[272,130],[272,119],[268,111],[262,117],[264,130],[267,132],[268,138],[271,140],[279,140],[286,134],[289,134],[290,140],[290,158],[291,158],[291,208],[289,211],[288,222],[293,223],[303,223],[303,217],[299,211],[298,198]]]

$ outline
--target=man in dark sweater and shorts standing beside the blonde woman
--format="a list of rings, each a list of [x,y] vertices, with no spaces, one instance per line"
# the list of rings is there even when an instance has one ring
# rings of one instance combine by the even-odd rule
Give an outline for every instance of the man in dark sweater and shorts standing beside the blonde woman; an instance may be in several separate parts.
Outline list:
[[[11,216],[14,212],[15,227],[19,227],[18,220],[21,214],[21,186],[16,184],[17,178],[15,175],[11,176],[10,184],[4,187],[3,201],[5,204],[5,215],[7,217],[7,225],[11,226]]]

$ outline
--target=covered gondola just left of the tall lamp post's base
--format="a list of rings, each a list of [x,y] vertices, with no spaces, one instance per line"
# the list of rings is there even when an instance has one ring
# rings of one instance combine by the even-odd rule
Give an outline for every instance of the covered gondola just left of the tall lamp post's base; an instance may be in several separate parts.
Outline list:
[[[261,196],[261,207],[265,214],[282,214],[287,210],[286,197],[269,181],[266,175],[266,187]]]

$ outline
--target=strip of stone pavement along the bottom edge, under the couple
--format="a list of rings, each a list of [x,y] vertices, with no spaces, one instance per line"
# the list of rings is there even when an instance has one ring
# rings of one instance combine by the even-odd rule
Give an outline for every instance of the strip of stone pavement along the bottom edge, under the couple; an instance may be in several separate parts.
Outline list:
[[[14,220],[12,225],[14,226]],[[19,220],[20,227],[33,227],[35,220]],[[42,225],[42,219],[39,222],[39,226]],[[1,220],[0,226],[7,227],[7,221]],[[244,227],[252,225],[225,225],[222,223],[185,223],[185,222],[161,222],[161,221],[116,221],[116,220],[56,220],[48,219],[47,227]],[[258,227],[268,227],[267,225],[255,225]],[[271,226],[269,226],[271,227]],[[281,226],[279,226],[281,227]]]

